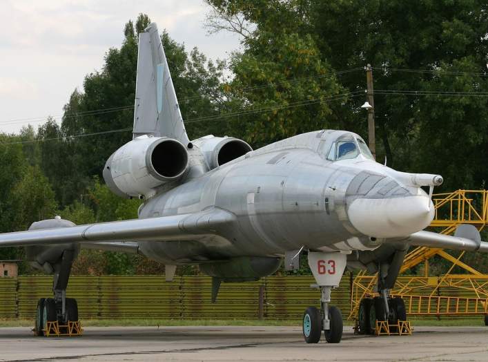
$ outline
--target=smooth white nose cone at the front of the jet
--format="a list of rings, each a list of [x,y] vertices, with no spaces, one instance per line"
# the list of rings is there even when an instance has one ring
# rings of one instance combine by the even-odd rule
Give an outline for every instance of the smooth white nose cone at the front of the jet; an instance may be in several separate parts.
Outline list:
[[[347,209],[349,221],[361,234],[376,238],[407,236],[429,226],[434,207],[429,196],[382,196],[380,193],[358,196]]]

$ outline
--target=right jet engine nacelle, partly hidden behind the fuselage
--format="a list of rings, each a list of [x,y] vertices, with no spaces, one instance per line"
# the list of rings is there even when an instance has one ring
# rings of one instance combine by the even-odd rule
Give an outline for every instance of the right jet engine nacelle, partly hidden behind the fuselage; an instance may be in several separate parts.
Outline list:
[[[253,151],[247,142],[234,137],[206,135],[192,143],[200,149],[210,169],[215,169]]]

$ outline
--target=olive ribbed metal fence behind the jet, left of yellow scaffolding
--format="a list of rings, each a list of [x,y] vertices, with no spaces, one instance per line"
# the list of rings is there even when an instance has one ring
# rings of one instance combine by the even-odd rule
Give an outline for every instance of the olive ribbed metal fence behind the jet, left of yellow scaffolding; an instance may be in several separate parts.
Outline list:
[[[67,295],[77,298],[80,318],[300,318],[319,305],[311,276],[269,276],[253,283],[222,283],[211,303],[211,278],[183,276],[72,276]],[[52,277],[0,278],[0,318],[34,318],[37,299],[52,295]],[[347,316],[350,282],[343,278],[332,303]]]

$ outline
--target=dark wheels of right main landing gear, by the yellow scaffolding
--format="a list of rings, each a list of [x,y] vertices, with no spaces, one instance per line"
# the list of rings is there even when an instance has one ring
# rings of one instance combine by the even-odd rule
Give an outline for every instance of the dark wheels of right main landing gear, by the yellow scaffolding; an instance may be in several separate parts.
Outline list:
[[[399,321],[407,321],[407,311],[402,298],[363,298],[359,305],[358,332],[375,334],[376,322],[387,321],[390,325],[398,325]]]

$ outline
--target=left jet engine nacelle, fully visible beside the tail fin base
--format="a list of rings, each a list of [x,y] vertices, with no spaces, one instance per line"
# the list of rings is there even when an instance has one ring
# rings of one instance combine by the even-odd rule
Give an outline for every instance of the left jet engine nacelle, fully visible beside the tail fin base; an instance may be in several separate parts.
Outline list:
[[[168,137],[141,135],[108,158],[104,180],[119,196],[148,196],[155,188],[179,180],[188,169],[188,151]]]

